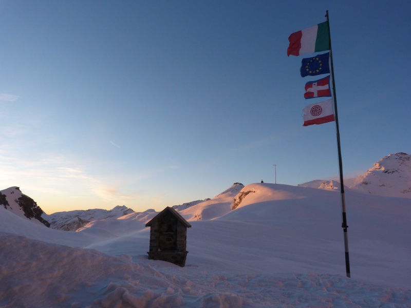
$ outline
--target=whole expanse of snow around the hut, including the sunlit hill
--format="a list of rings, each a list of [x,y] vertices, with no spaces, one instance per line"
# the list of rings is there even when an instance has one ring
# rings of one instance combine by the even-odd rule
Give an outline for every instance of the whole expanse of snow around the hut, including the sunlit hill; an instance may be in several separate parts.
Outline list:
[[[409,199],[346,204],[352,278],[336,189],[233,185],[179,211],[185,267],[147,259],[153,210],[65,232],[0,207],[0,306],[411,307]]]

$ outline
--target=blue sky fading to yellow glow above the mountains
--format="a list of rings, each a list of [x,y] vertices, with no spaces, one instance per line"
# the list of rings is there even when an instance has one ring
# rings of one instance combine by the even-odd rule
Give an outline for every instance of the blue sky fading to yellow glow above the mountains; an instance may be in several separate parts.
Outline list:
[[[310,54],[287,57],[326,10],[344,177],[410,153],[409,1],[0,0],[0,189],[142,211],[338,177],[335,123],[302,126]]]

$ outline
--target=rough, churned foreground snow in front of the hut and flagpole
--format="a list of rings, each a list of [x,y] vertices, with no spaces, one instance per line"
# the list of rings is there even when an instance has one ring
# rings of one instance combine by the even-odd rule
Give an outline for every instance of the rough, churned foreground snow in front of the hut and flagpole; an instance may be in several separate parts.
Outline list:
[[[411,291],[341,275],[260,274],[134,263],[2,234],[2,307],[407,307]],[[19,256],[16,258],[16,256]],[[5,287],[7,285],[7,287]]]

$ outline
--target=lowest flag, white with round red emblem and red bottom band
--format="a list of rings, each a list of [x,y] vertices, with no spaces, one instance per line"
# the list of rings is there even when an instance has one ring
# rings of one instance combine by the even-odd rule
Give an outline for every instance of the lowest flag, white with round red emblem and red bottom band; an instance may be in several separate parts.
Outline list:
[[[305,107],[303,109],[303,120],[303,126],[335,121],[332,99]]]

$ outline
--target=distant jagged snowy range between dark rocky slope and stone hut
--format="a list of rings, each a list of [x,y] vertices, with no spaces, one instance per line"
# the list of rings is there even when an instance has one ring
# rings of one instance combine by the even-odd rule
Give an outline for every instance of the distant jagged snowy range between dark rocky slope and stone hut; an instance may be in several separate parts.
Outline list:
[[[43,214],[42,217],[50,223],[53,229],[64,231],[76,231],[84,227],[87,223],[102,219],[117,219],[121,216],[134,213],[134,210],[126,206],[117,205],[113,209],[87,209],[71,210],[53,213],[50,215]]]

